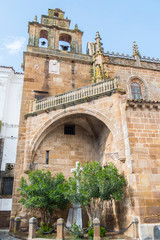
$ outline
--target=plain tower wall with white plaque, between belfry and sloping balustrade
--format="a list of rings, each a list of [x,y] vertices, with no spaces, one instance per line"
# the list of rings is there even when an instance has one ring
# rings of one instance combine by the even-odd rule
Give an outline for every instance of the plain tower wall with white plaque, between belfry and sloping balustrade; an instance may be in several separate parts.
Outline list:
[[[37,50],[38,52],[38,50]],[[44,52],[45,53],[45,52]],[[25,75],[24,81],[28,82],[27,88],[24,86],[23,92],[30,89],[28,97],[34,100],[33,91],[48,92],[46,97],[54,96],[70,91],[74,88],[79,88],[92,83],[90,76],[91,64],[90,61],[83,63],[70,56],[70,53],[65,54],[65,58],[53,57],[42,53],[25,53]],[[50,61],[57,61],[57,72],[49,71]],[[85,60],[85,59],[84,59]],[[28,99],[29,100],[29,99]]]

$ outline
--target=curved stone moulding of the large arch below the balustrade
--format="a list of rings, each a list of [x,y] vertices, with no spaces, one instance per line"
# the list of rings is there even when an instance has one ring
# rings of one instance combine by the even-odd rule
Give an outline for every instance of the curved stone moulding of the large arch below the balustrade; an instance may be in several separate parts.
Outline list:
[[[25,156],[26,159],[24,159],[24,170],[28,169],[27,167],[27,163],[29,162],[28,160],[30,159],[30,163],[32,162],[37,148],[39,147],[43,139],[47,136],[47,134],[49,134],[49,132],[56,128],[59,124],[61,124],[66,117],[72,117],[77,114],[89,115],[101,121],[112,133],[114,139],[113,141],[117,143],[118,149],[121,134],[118,134],[117,128],[114,125],[113,121],[111,122],[106,115],[97,110],[86,109],[82,107],[76,109],[75,108],[65,109],[59,113],[52,115],[48,120],[46,120],[46,122],[43,123],[40,129],[35,133],[34,137],[32,138],[30,144],[27,147],[28,149],[26,151],[27,155]]]

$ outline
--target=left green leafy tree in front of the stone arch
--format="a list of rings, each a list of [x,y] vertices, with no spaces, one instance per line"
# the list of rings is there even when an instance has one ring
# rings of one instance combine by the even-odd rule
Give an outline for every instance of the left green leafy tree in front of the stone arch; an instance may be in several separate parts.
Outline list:
[[[42,221],[47,224],[51,222],[56,209],[64,210],[67,207],[68,200],[64,196],[67,181],[62,173],[52,177],[49,171],[44,170],[29,172],[28,180],[21,178],[18,189],[21,193],[20,202],[26,208],[39,210]]]

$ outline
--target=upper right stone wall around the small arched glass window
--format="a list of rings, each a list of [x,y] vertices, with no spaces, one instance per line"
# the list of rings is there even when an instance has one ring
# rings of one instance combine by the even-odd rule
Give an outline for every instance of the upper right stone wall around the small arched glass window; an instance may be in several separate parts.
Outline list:
[[[107,61],[104,65],[107,76],[119,77],[119,88],[126,91],[126,98],[133,99],[131,82],[138,79],[143,99],[160,101],[160,64],[146,63],[144,68],[135,66],[135,60],[116,59],[116,64],[110,62],[111,60]]]

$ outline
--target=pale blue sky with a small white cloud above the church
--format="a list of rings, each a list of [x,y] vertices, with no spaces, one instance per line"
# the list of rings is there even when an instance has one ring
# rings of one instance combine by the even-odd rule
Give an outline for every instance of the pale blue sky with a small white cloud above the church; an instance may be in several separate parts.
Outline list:
[[[38,21],[48,8],[62,8],[78,24],[83,53],[100,32],[105,52],[132,55],[136,41],[142,56],[160,58],[160,0],[0,0],[0,66],[22,72],[28,42],[28,22]]]

